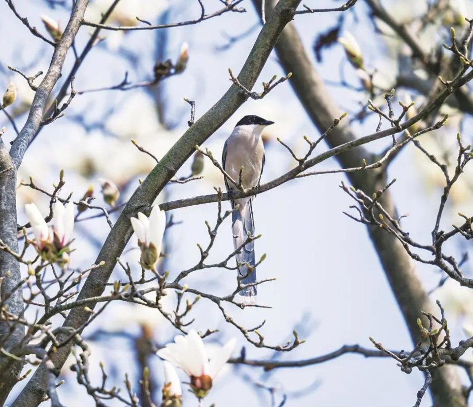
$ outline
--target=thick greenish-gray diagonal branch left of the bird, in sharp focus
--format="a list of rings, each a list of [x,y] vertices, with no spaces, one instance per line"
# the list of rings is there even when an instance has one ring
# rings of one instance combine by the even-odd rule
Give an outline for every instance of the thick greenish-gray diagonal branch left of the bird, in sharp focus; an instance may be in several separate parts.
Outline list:
[[[291,21],[299,3],[300,0],[281,0],[274,8],[238,75],[239,82],[246,88],[251,89],[253,87],[277,38],[286,24]],[[132,235],[130,217],[136,214],[138,208],[153,203],[163,187],[195,151],[195,146],[202,145],[243,104],[246,98],[247,95],[242,94],[240,89],[233,84],[223,97],[184,133],[154,167],[143,183],[136,189],[110,231],[96,261],[96,264],[98,264],[103,260],[105,264],[90,274],[78,299],[100,296],[103,293],[105,284],[116,264],[116,259],[121,255]],[[93,305],[91,304],[89,307],[93,308]],[[84,309],[75,308],[68,314],[64,325],[78,328],[88,320],[89,316],[90,314]],[[62,347],[54,354],[52,360],[57,368],[60,368],[66,362],[69,351],[70,345]],[[41,366],[12,404],[12,407],[37,406],[43,398],[45,388],[46,368]]]

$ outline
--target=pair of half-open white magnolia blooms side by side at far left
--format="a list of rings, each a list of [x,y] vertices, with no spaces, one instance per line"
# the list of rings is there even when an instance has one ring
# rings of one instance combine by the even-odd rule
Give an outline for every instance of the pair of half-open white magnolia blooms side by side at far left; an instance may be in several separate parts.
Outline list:
[[[69,243],[74,229],[74,205],[64,206],[59,200],[53,205],[53,227],[50,229],[34,203],[25,205],[25,212],[34,232],[34,247],[43,260],[66,265]]]

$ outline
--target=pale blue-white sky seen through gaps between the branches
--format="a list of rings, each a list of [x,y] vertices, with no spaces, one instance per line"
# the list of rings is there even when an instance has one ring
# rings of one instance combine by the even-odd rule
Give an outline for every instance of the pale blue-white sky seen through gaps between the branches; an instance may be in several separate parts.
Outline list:
[[[144,1],[144,0],[143,0]],[[45,12],[43,1],[16,1],[19,11],[28,15],[33,25],[41,27],[38,15]],[[195,4],[194,4],[195,3]],[[209,10],[218,6],[216,0],[204,0],[209,4]],[[307,4],[317,7],[334,6],[340,2],[312,1]],[[190,4],[190,5],[189,5]],[[230,85],[228,68],[238,72],[248,54],[258,30],[250,36],[237,42],[229,50],[216,52],[215,47],[225,43],[223,33],[238,35],[245,32],[257,22],[251,1],[244,1],[242,6],[247,8],[247,13],[227,13],[218,18],[204,22],[197,26],[174,28],[168,31],[169,57],[175,58],[182,41],[188,41],[190,47],[190,61],[184,74],[166,80],[164,87],[167,94],[167,113],[170,120],[178,122],[176,137],[186,129],[188,120],[188,106],[182,101],[183,97],[194,99],[197,103],[196,115],[199,117],[210,108],[224,90]],[[197,1],[180,1],[173,6],[181,12],[173,13],[171,20],[191,18],[199,13]],[[54,18],[67,21],[66,13],[58,8],[47,11]],[[365,4],[359,1],[354,13],[360,19],[354,25],[354,14],[346,14],[347,27],[351,27],[353,34],[360,41],[366,52],[368,61],[381,59],[383,49],[372,46],[372,26],[365,18]],[[1,68],[6,65],[25,66],[36,62],[28,72],[43,71],[47,68],[51,56],[51,49],[41,40],[32,37],[13,16],[4,2],[0,3],[0,49]],[[8,15],[8,18],[5,18]],[[145,17],[145,16],[141,16]],[[297,16],[295,24],[300,30],[307,50],[316,64],[311,51],[314,38],[335,23],[338,14],[314,14]],[[80,50],[87,40],[87,28],[82,28],[77,39]],[[129,71],[132,81],[145,78],[149,67],[152,66],[153,45],[156,37],[152,32],[137,32],[128,35],[123,43],[125,49],[139,52],[143,57],[137,67],[133,67],[122,58],[117,58],[113,52],[107,51],[104,46],[94,49],[87,57],[86,62],[76,77],[76,89],[94,88],[106,84],[119,82],[125,71]],[[146,55],[149,55],[147,57]],[[31,59],[34,58],[34,61]],[[69,52],[64,73],[72,61]],[[316,64],[316,69],[326,79],[338,79],[339,62],[344,54],[339,45],[333,46],[324,52],[323,64]],[[21,62],[23,61],[23,62]],[[373,65],[373,62],[372,62]],[[345,66],[347,77],[354,80],[351,67]],[[268,80],[273,74],[283,74],[277,64],[273,52],[256,90],[261,86],[261,80]],[[297,72],[293,73],[297,74]],[[0,72],[0,88],[7,82],[5,72]],[[15,76],[15,80],[22,80]],[[332,87],[332,96],[340,102],[340,106],[351,111],[357,110],[357,100],[353,93]],[[132,95],[140,90],[126,92],[101,92],[87,95],[78,95],[67,114],[78,113],[93,104],[93,111],[87,114],[91,120],[101,118],[111,106],[126,106]],[[205,144],[215,155],[220,154],[225,138],[231,132],[236,121],[245,114],[259,114],[274,120],[276,124],[271,129],[274,136],[279,136],[293,146],[302,148],[303,135],[314,139],[317,131],[307,118],[304,110],[299,105],[291,87],[286,82],[274,89],[267,97],[260,101],[248,101],[230,120],[222,126]],[[21,125],[25,116],[18,119]],[[107,118],[105,117],[105,120]],[[8,123],[0,116],[0,126]],[[362,127],[356,126],[357,134],[365,135],[374,130],[373,121],[368,120]],[[54,124],[44,129],[34,142],[32,148],[25,156],[25,165],[34,167],[37,157],[54,151],[54,146],[59,140],[64,142],[74,136],[74,132],[81,131],[79,127],[68,121],[67,118],[57,120]],[[12,132],[6,136],[11,137]],[[454,137],[454,134],[452,135]],[[7,139],[9,140],[9,139]],[[75,139],[74,139],[75,140]],[[80,137],[79,137],[80,140]],[[390,140],[377,143],[376,148],[385,147]],[[91,143],[84,136],[81,143]],[[93,141],[92,141],[93,143]],[[93,145],[90,146],[94,148]],[[67,148],[67,144],[66,144]],[[320,145],[319,151],[325,149]],[[156,151],[162,155],[164,151]],[[58,157],[51,157],[51,165]],[[103,152],[103,159],[107,159],[107,151]],[[206,165],[210,165],[206,162]],[[270,144],[266,154],[266,168],[263,182],[287,171],[292,165],[289,154],[277,143]],[[187,175],[190,164],[186,164],[182,175]],[[320,168],[335,168],[335,160],[324,162]],[[113,171],[113,169],[112,169]],[[45,171],[50,174],[50,171]],[[46,177],[50,177],[47,175]],[[425,199],[422,176],[416,171],[413,164],[412,149],[406,151],[397,159],[390,169],[390,178],[396,177],[398,183],[392,187],[400,212],[408,212],[412,219],[407,219],[405,224],[414,234],[423,238],[429,237],[425,227],[431,227],[433,214],[437,208],[437,200]],[[41,180],[41,174],[35,178]],[[75,176],[70,175],[72,180]],[[98,177],[99,178],[99,177]],[[256,242],[257,257],[263,253],[268,255],[266,261],[259,267],[259,277],[277,277],[275,282],[265,284],[259,289],[261,303],[271,305],[269,310],[245,310],[235,312],[233,315],[247,327],[257,325],[262,319],[267,323],[262,329],[267,341],[272,344],[283,343],[290,335],[295,325],[301,319],[309,320],[311,332],[304,337],[306,343],[289,354],[281,354],[281,359],[303,359],[324,354],[337,349],[342,344],[359,343],[372,346],[368,337],[372,336],[381,341],[385,346],[396,349],[408,349],[410,338],[405,328],[404,320],[393,298],[389,285],[384,277],[383,270],[373,251],[366,229],[363,225],[353,222],[342,214],[352,201],[338,187],[341,180],[340,174],[317,176],[293,181],[282,187],[273,189],[258,196],[254,202],[254,214],[258,233],[262,238]],[[53,179],[45,179],[44,185],[50,185]],[[199,182],[198,182],[199,183]],[[172,185],[168,190],[166,200],[181,197],[190,197],[196,194],[211,193],[212,185],[209,182],[190,183],[186,185]],[[136,183],[135,183],[136,184]],[[220,184],[221,185],[221,184]],[[68,185],[70,189],[74,185]],[[76,192],[76,197],[81,191]],[[229,205],[225,204],[228,208]],[[198,250],[196,242],[206,242],[207,232],[204,220],[213,222],[216,216],[216,204],[207,204],[199,207],[190,207],[173,211],[176,220],[183,221],[169,231],[169,243],[172,251],[169,256],[169,270],[175,275],[179,270],[193,265],[197,261]],[[84,225],[84,224],[82,224]],[[427,229],[429,230],[429,229]],[[92,232],[100,241],[107,233],[107,226],[103,220],[89,223],[88,231]],[[77,245],[83,250],[84,264],[89,264],[95,259],[95,247],[84,235],[78,236]],[[135,247],[132,238],[130,247]],[[217,237],[215,247],[210,259],[219,260],[233,250],[230,232],[230,222],[226,221]],[[80,253],[78,251],[78,253]],[[78,261],[74,255],[75,261]],[[78,264],[74,264],[78,265]],[[432,269],[419,268],[422,278],[430,285],[436,278]],[[230,290],[234,284],[234,275],[222,270],[209,270],[195,273],[188,280],[189,286],[201,287],[203,290],[216,289],[219,292]],[[99,328],[117,317],[114,313],[115,305],[111,304],[94,324]],[[147,313],[149,315],[149,313]],[[310,316],[310,317],[308,317]],[[196,312],[196,328],[219,328],[222,330],[220,338],[227,339],[236,336],[239,346],[246,346],[246,354],[250,358],[264,359],[271,355],[269,351],[256,349],[246,345],[244,338],[235,329],[223,324],[218,310],[213,304],[201,300]],[[136,332],[133,321],[130,321],[130,330]],[[127,329],[123,327],[124,329]],[[459,332],[458,332],[459,333]],[[160,340],[169,340],[173,330],[168,328],[166,335],[160,333]],[[463,337],[458,337],[458,340]],[[115,360],[122,370],[130,369],[128,362],[132,357],[128,345],[123,340],[111,339],[105,344],[98,344],[101,358]],[[93,355],[94,356],[94,355]],[[97,359],[98,362],[98,359]],[[110,362],[111,363],[111,362]],[[97,363],[96,363],[97,365]],[[98,367],[96,373],[98,373]],[[95,369],[94,368],[94,369]],[[161,364],[158,358],[153,362],[153,372],[161,374]],[[258,379],[261,370],[242,368],[242,371]],[[133,371],[132,371],[133,372]],[[99,379],[99,375],[96,376]],[[113,379],[113,377],[112,377]],[[121,376],[116,378],[120,382]],[[73,384],[74,378],[68,376],[68,382],[59,389],[59,395],[64,402],[78,400],[74,405],[91,403],[83,389],[77,390]],[[300,398],[291,397],[293,393],[304,390],[318,382],[318,388],[307,392]],[[286,406],[323,406],[323,407],[401,407],[412,405],[415,394],[422,386],[422,375],[414,371],[410,375],[401,372],[396,363],[388,359],[364,359],[357,355],[343,356],[335,361],[318,366],[302,369],[288,369],[274,372],[269,380],[270,386],[283,386],[289,399]],[[76,394],[77,392],[77,394]],[[263,393],[265,394],[265,393]],[[280,393],[279,393],[280,395]],[[267,395],[265,394],[265,397]],[[192,396],[186,397],[186,406],[195,406]],[[215,385],[204,405],[212,402],[216,406],[269,406],[268,398],[262,404],[254,392],[246,386],[238,376],[233,377],[232,372],[227,373],[220,383]],[[423,401],[423,406],[429,406],[429,396]],[[72,406],[72,404],[70,404]],[[69,406],[69,405],[68,405]]]

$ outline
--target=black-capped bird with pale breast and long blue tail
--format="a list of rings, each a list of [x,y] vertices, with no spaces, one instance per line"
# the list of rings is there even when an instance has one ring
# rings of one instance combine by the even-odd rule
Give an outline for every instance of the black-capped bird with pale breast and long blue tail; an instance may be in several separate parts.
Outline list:
[[[260,185],[261,175],[265,166],[265,148],[261,135],[266,126],[273,124],[256,115],[247,115],[241,118],[235,126],[223,147],[222,167],[225,172],[236,182],[239,182],[241,173],[241,186],[251,189]],[[243,170],[241,168],[243,167]],[[225,177],[227,192],[238,190],[237,185]],[[238,275],[242,284],[256,283],[254,241],[248,242],[241,248],[248,236],[255,234],[252,201],[254,196],[232,199],[232,234],[236,253]],[[250,267],[250,270],[248,270]],[[251,269],[253,268],[253,269]],[[250,271],[250,273],[248,273]],[[256,285],[245,287],[239,294],[252,302],[257,294]],[[250,298],[247,298],[250,297]]]

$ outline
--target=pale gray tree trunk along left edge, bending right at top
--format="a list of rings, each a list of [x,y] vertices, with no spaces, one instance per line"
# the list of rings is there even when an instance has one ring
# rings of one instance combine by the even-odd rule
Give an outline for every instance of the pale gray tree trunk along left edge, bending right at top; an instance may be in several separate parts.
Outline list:
[[[27,122],[14,140],[9,152],[0,139],[0,172],[11,167],[10,171],[0,175],[0,239],[15,252],[18,252],[16,170],[42,124],[43,113],[49,96],[61,76],[66,55],[80,28],[88,2],[88,0],[77,0],[75,2],[63,36],[54,48],[49,69],[36,90]],[[10,272],[10,276],[3,281],[0,295],[2,300],[7,298],[5,303],[8,311],[18,316],[23,312],[23,293],[21,289],[12,293],[12,289],[21,281],[20,265],[13,256],[0,251],[0,275],[4,276],[7,271]],[[12,333],[9,334],[9,328],[5,324],[1,324],[0,339],[4,339],[7,334],[8,339],[6,339],[3,347],[5,350],[10,350],[20,343],[24,335],[23,326],[16,324]],[[21,371],[23,364],[3,355],[0,355],[0,362],[6,362],[8,365],[7,369],[0,372],[0,405],[3,405],[11,389],[17,383],[18,373]]]

